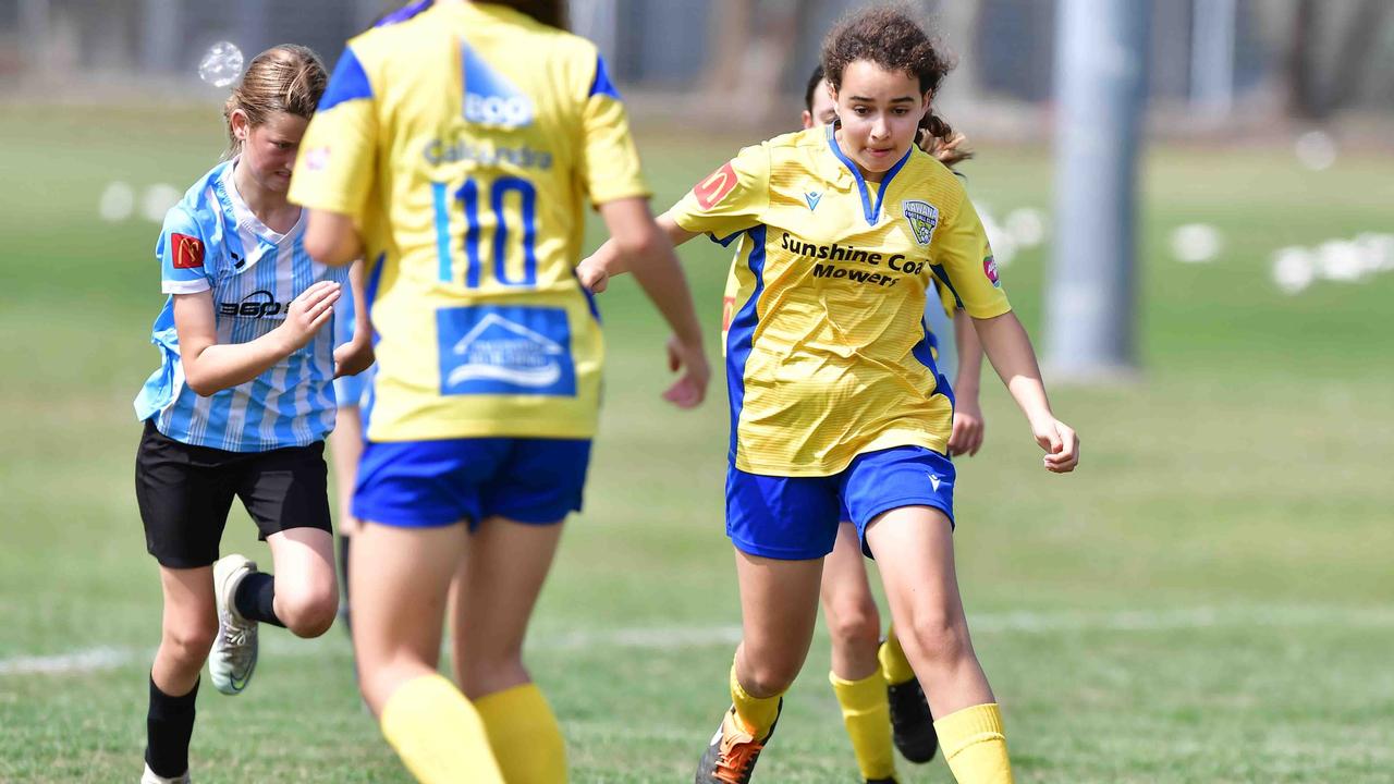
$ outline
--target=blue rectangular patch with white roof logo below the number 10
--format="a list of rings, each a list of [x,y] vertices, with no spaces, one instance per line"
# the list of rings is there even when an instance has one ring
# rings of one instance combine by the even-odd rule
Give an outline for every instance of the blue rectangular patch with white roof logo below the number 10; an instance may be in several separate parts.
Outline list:
[[[436,311],[441,395],[576,396],[566,311],[474,306]]]

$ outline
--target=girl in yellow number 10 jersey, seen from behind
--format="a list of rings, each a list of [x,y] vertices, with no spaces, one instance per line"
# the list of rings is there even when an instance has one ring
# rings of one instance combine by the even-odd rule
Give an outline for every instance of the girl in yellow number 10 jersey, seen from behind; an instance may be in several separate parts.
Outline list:
[[[595,432],[604,347],[574,272],[587,198],[676,333],[665,396],[694,406],[708,378],[623,103],[595,46],[558,29],[560,8],[421,1],[351,39],[291,186],[311,255],[368,261],[378,370],[353,499],[354,653],[425,783],[566,780],[521,650]],[[461,562],[456,689],[436,661]]]

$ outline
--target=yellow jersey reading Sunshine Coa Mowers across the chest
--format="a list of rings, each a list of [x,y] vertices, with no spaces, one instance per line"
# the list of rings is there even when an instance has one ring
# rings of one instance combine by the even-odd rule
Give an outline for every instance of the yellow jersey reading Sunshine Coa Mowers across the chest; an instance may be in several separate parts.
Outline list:
[[[669,211],[739,241],[726,304],[730,459],[829,476],[864,452],[945,452],[953,405],[924,328],[931,276],[976,318],[1011,310],[963,186],[920,149],[863,181],[834,127],[743,149]]]

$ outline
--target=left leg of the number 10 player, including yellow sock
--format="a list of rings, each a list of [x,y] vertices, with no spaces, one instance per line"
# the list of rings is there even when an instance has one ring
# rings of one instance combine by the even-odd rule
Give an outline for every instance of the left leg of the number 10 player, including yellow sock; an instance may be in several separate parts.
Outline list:
[[[502,784],[478,713],[436,674],[446,591],[466,552],[464,525],[364,522],[350,554],[358,686],[388,742],[427,784]]]

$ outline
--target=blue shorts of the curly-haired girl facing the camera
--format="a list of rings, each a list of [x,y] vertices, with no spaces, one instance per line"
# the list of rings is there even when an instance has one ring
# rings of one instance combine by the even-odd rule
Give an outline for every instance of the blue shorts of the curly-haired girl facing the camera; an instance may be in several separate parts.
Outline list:
[[[923,446],[857,455],[841,473],[779,477],[726,470],[726,536],[742,552],[803,561],[832,552],[838,523],[866,527],[901,506],[933,506],[953,523],[953,463]]]

